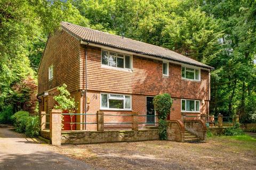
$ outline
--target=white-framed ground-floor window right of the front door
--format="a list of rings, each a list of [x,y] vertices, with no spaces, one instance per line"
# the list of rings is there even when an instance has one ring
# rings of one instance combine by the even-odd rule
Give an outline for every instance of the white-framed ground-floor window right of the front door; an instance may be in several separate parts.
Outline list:
[[[200,112],[200,101],[181,99],[181,112]]]

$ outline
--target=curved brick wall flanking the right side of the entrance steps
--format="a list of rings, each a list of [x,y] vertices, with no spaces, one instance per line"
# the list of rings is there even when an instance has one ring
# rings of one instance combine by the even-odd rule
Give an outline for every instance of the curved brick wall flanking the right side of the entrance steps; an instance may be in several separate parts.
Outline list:
[[[206,139],[206,125],[202,120],[184,120],[185,129],[195,134],[200,140]]]

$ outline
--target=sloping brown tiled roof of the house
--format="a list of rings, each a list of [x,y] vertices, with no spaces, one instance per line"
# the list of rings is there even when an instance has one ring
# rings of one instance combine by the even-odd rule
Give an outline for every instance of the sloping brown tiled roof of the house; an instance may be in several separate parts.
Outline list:
[[[207,69],[213,69],[213,67],[209,65],[203,64],[179,53],[173,52],[172,50],[167,48],[143,43],[141,41],[133,40],[130,38],[123,38],[121,36],[112,35],[110,33],[93,30],[90,28],[81,27],[79,25],[71,24],[68,22],[61,22],[61,27],[79,40],[85,40],[89,43],[91,42],[100,45],[107,45],[110,47],[129,50],[135,53],[146,54],[159,58],[165,58],[172,61],[200,66]]]

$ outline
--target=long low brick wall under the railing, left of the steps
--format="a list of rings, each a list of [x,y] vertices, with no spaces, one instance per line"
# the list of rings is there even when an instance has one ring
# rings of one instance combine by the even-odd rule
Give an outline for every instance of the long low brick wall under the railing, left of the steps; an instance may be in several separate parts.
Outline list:
[[[88,144],[104,142],[131,142],[158,140],[158,129],[124,131],[62,131],[61,144]]]

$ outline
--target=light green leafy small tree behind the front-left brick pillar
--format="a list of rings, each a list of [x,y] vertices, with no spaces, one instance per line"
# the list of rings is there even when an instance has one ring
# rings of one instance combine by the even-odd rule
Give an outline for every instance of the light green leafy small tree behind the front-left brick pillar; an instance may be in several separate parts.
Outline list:
[[[61,109],[62,111],[75,113],[77,104],[75,99],[70,97],[70,94],[67,90],[67,85],[63,84],[62,86],[58,87],[57,90],[60,91],[60,94],[53,97],[53,99],[58,103],[58,105],[54,106],[54,109]]]

